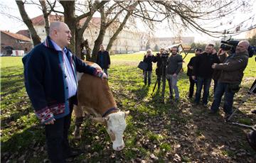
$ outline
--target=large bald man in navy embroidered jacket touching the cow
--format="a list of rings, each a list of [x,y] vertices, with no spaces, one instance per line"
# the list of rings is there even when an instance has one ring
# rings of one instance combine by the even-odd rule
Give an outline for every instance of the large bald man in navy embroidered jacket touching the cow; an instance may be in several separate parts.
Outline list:
[[[51,162],[65,162],[66,158],[78,154],[68,144],[73,105],[77,104],[76,72],[107,78],[104,72],[85,64],[68,50],[70,38],[70,29],[65,23],[50,23],[46,40],[22,59],[26,91],[36,116],[45,124]]]

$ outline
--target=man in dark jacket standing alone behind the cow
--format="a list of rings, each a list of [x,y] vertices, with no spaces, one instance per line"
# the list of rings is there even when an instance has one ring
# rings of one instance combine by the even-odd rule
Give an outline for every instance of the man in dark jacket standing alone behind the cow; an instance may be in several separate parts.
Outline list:
[[[110,68],[110,54],[105,50],[103,45],[100,45],[100,51],[97,53],[96,63],[99,64],[103,69],[103,72],[107,74],[107,69]]]

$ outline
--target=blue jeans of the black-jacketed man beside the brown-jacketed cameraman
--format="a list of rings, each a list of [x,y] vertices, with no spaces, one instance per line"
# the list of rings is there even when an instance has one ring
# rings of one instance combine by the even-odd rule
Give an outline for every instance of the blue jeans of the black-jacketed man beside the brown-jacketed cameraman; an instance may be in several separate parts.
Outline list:
[[[200,102],[202,89],[203,89],[203,104],[208,103],[210,81],[211,81],[211,78],[203,78],[203,77],[197,78],[195,103]]]

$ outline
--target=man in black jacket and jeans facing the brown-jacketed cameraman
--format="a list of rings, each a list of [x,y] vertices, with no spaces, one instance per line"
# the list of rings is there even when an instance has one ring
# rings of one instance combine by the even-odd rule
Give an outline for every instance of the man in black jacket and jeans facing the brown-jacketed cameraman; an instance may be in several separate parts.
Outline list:
[[[213,47],[213,44],[206,45],[206,51],[196,57],[193,66],[193,74],[195,75],[192,78],[195,80],[197,77],[195,103],[199,104],[203,88],[203,106],[207,106],[208,103],[210,81],[213,74],[211,65],[213,63],[220,63],[217,55],[213,55]]]

